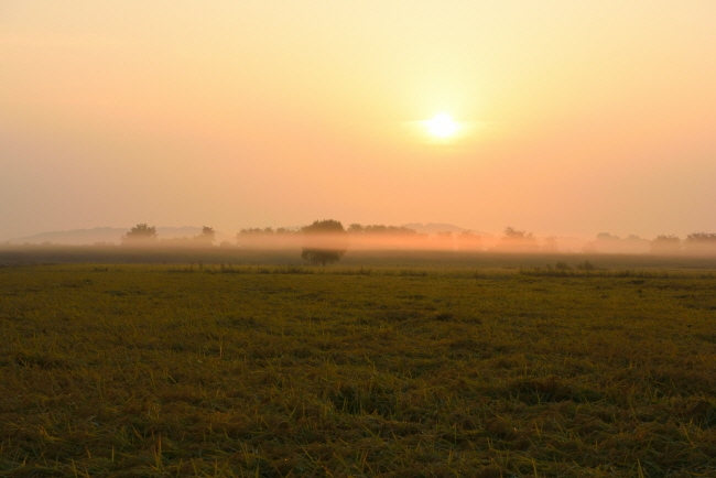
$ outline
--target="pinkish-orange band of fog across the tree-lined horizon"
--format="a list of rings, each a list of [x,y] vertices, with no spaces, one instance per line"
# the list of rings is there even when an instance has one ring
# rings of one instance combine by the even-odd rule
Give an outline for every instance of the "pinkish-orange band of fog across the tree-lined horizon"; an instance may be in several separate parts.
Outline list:
[[[327,222],[337,228],[332,231],[312,231],[316,225]],[[410,227],[409,227],[410,226]],[[149,236],[147,236],[149,233]],[[18,247],[56,249],[62,247],[94,247],[121,249],[177,250],[219,249],[290,251],[337,250],[354,251],[459,251],[475,253],[528,254],[657,254],[657,256],[716,256],[716,233],[694,232],[685,238],[660,235],[644,239],[634,235],[620,238],[608,232],[595,238],[546,236],[538,237],[525,230],[506,227],[500,233],[464,229],[448,224],[411,224],[406,226],[360,225],[344,227],[335,220],[316,220],[313,225],[290,228],[245,228],[236,235],[216,231],[210,227],[153,227],[147,224],[130,229],[94,228],[45,232],[14,238],[0,243],[0,249]],[[147,260],[151,259],[147,256]],[[339,259],[339,258],[338,258]]]

